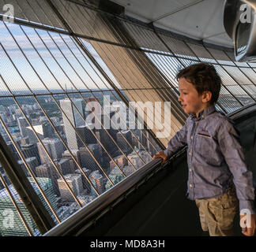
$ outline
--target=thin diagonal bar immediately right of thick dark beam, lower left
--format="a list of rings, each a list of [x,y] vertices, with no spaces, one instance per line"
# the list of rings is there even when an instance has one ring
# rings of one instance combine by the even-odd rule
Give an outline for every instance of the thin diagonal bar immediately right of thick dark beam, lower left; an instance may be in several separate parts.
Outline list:
[[[2,76],[0,76],[0,78],[2,79]],[[4,80],[2,79],[2,81],[4,82]],[[40,183],[37,182],[36,180],[36,176],[34,176],[34,173],[32,172],[32,169],[29,167],[27,161],[25,160],[25,158],[23,157],[23,154],[21,153],[21,150],[17,147],[15,141],[13,140],[13,136],[9,133],[8,128],[6,127],[6,124],[4,123],[4,121],[2,120],[2,117],[0,117],[0,121],[2,123],[2,126],[5,128],[6,134],[9,136],[9,139],[11,140],[11,142],[13,143],[13,146],[15,147],[15,149],[17,150],[17,153],[19,154],[19,156],[21,157],[21,160],[24,162],[24,165],[26,167],[26,169],[28,169],[30,175],[32,176],[33,180],[36,183],[36,186],[39,188],[41,194],[43,195],[44,200],[47,202],[47,205],[50,207],[51,212],[55,215],[56,220],[58,221],[58,223],[60,222],[58,215],[55,213],[55,209],[52,208],[51,203],[48,201],[47,196],[44,194],[42,187],[40,186]]]

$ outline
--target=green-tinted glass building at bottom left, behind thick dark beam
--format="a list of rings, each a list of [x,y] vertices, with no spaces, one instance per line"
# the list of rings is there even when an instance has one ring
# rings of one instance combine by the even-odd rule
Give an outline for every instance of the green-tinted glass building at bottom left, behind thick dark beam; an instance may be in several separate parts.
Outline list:
[[[40,200],[43,202],[43,205],[46,207],[47,211],[51,213],[51,209],[47,205],[47,202],[45,202],[43,195],[41,195],[38,187],[36,187],[36,183],[31,178],[28,178],[28,180],[32,183],[32,187],[34,187],[36,194],[39,195]],[[51,206],[56,211],[57,203],[53,192],[51,180],[47,178],[38,178],[37,181],[40,184],[40,187],[42,187],[43,192],[45,193]],[[9,185],[9,191],[11,191],[18,208],[21,210],[21,213],[24,216],[26,223],[28,224],[28,228],[32,231],[33,235],[37,235],[39,232],[36,229],[36,224],[34,224],[34,222],[32,221],[32,217],[28,213],[28,210],[24,206],[24,203],[21,201],[20,196],[17,194],[17,191],[12,184]],[[24,227],[23,222],[21,221],[21,217],[17,213],[17,209],[15,208],[15,206],[13,206],[13,202],[9,198],[6,188],[0,190],[0,213],[0,233],[2,236],[28,235],[28,232]],[[53,214],[52,217],[54,218]]]

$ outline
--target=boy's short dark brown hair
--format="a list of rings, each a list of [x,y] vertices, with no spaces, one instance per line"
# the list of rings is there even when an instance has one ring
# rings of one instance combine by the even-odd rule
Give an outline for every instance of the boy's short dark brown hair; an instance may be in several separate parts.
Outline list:
[[[206,63],[190,65],[177,73],[176,79],[180,78],[185,78],[192,83],[199,95],[202,95],[204,91],[210,91],[212,93],[211,104],[219,98],[221,79],[213,65]]]

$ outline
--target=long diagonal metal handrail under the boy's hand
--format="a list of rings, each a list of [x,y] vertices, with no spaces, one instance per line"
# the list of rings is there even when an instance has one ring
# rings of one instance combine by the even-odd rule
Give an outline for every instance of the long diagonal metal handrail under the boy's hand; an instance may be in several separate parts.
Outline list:
[[[173,161],[174,158],[178,158],[180,155],[182,155],[185,150],[186,146],[171,156],[171,158],[166,161],[164,165],[160,165],[160,158],[149,161],[149,163],[145,164],[143,167],[141,167],[141,169],[138,169],[130,176],[127,176],[126,180],[122,180],[114,187],[111,187],[111,189],[98,196],[87,206],[77,210],[76,213],[73,213],[73,215],[68,217],[65,221],[62,221],[54,228],[51,228],[51,230],[45,233],[43,236],[65,236],[73,233],[75,233],[75,235],[79,235],[81,232],[84,232],[85,228],[90,226],[90,222],[93,224],[92,219],[97,213],[101,213],[102,211],[107,213],[115,201],[119,202],[122,196],[126,198],[131,191],[134,191],[136,187],[149,180],[149,177],[155,175],[156,172],[159,172],[161,169],[164,169],[170,165],[171,161]],[[77,232],[77,229],[81,226],[84,226],[84,228],[82,228],[82,230],[80,228],[80,230]]]

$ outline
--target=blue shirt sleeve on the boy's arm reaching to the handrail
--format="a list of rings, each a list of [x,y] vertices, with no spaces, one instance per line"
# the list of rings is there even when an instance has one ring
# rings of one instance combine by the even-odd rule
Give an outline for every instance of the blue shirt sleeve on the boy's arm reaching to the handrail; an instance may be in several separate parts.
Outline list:
[[[164,150],[164,154],[168,158],[171,158],[171,154],[174,154],[177,150],[179,150],[183,146],[186,146],[186,134],[187,128],[185,123],[183,128],[181,128],[179,132],[176,132],[174,137],[171,138],[171,140],[168,142],[168,147],[166,148],[166,150]]]

